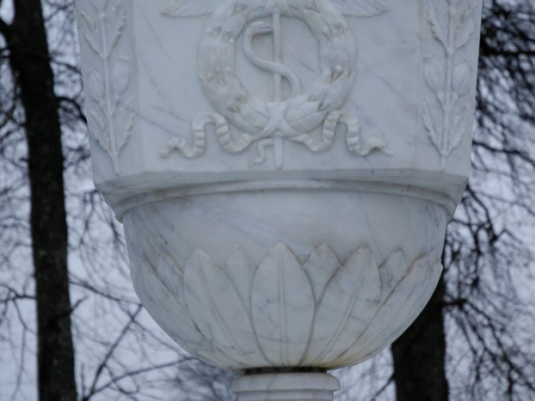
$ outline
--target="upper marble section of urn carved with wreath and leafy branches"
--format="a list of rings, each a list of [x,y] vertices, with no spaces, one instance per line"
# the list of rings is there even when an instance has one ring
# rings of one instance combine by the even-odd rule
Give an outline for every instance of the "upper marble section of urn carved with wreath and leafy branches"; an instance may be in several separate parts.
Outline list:
[[[97,182],[146,172],[468,174],[456,160],[470,151],[475,104],[480,5],[469,0],[80,8],[94,153],[113,167]],[[122,152],[135,159],[126,170]]]

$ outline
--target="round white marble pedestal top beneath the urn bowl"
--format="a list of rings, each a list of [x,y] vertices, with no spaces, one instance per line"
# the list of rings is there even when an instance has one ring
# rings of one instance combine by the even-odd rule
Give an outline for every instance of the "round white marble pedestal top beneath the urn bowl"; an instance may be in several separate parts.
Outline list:
[[[232,384],[238,401],[330,401],[340,390],[327,373],[262,373],[244,375]]]

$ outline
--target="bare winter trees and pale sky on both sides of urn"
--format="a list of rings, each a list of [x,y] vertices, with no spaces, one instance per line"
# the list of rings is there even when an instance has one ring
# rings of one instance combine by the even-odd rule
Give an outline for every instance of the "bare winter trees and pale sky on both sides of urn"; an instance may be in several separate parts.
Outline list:
[[[535,400],[533,0],[485,0],[477,89],[441,284],[391,349],[335,372],[337,400]],[[92,185],[73,1],[0,0],[0,401],[232,400],[233,375],[132,290]]]

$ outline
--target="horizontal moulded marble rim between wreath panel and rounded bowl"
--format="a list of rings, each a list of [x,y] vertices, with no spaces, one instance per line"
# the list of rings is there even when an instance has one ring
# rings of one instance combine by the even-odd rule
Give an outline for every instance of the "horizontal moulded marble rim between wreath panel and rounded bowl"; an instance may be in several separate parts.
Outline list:
[[[300,180],[293,179],[290,173],[285,176],[271,176],[271,175],[237,175],[234,174],[229,177],[234,177],[235,180],[225,182],[222,180],[222,175],[214,175],[212,179],[217,182],[198,182],[198,183],[183,183],[177,185],[176,179],[173,175],[170,177],[161,175],[144,175],[141,180],[130,180],[128,189],[123,189],[117,185],[116,182],[109,182],[109,185],[100,185],[99,190],[112,192],[113,197],[109,197],[108,202],[111,203],[112,208],[121,221],[123,216],[132,209],[140,207],[144,204],[153,202],[160,202],[163,199],[173,199],[181,197],[197,197],[212,194],[231,194],[239,192],[256,192],[256,191],[317,191],[317,192],[360,192],[360,193],[378,193],[378,194],[393,194],[403,197],[411,197],[415,199],[422,199],[425,201],[439,204],[448,213],[448,216],[453,216],[455,212],[458,189],[460,185],[454,182],[445,184],[440,182],[443,187],[438,187],[438,176],[428,175],[414,175],[414,177],[405,177],[404,171],[399,170],[394,175],[382,174],[382,172],[374,172],[374,180],[369,177],[369,172],[360,172],[361,177],[357,177],[355,172],[351,172],[351,179],[342,172],[337,175],[335,172],[335,179],[322,179],[318,175],[313,179]],[[299,173],[296,174],[298,176]],[[310,173],[314,175],[315,172]],[[203,178],[209,177],[205,175]],[[274,178],[283,177],[278,180]],[[247,178],[247,180],[245,179]],[[252,178],[256,178],[253,180]],[[206,179],[206,178],[205,178]],[[122,181],[124,182],[124,181]],[[131,188],[139,185],[138,193],[132,193]],[[149,183],[146,185],[146,183]],[[145,185],[145,188],[142,187]],[[130,191],[130,192],[128,192]]]

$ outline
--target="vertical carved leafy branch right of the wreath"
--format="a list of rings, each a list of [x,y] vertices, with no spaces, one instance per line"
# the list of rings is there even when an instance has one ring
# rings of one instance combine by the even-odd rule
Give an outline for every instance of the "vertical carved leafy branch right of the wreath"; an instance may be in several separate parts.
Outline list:
[[[436,94],[436,100],[423,103],[423,124],[431,143],[441,155],[445,168],[448,155],[460,145],[470,121],[470,76],[472,69],[464,60],[455,63],[458,51],[470,42],[475,32],[475,4],[459,10],[463,0],[428,0],[426,11],[434,38],[441,44],[445,57],[427,57],[424,66],[426,84]],[[444,9],[445,6],[447,9]],[[438,106],[438,107],[437,107]]]

